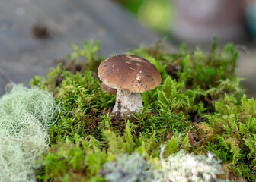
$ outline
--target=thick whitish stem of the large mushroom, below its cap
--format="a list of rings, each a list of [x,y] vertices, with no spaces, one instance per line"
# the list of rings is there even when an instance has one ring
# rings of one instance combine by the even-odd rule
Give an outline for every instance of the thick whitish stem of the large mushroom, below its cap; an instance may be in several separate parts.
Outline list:
[[[129,91],[117,89],[116,104],[113,113],[119,111],[121,115],[130,112],[142,112],[142,97],[140,93],[130,93]]]

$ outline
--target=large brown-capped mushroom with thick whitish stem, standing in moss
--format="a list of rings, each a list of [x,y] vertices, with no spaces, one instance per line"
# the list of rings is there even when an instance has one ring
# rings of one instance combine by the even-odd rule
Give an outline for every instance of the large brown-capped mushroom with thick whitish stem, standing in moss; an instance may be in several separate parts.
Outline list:
[[[140,93],[155,89],[161,83],[161,75],[148,60],[136,55],[116,55],[101,62],[98,67],[100,80],[117,89],[116,103],[112,113],[130,115],[142,112]]]

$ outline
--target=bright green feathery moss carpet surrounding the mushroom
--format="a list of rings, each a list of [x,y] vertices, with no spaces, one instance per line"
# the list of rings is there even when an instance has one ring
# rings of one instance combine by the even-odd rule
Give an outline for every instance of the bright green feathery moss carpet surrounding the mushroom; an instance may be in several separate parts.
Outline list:
[[[115,96],[101,89],[95,74],[103,58],[95,51],[98,45],[86,45],[75,47],[69,58],[73,67],[81,65],[78,60],[94,66],[70,71],[59,64],[48,77],[31,80],[32,86],[53,92],[62,105],[39,179],[104,181],[99,171],[105,162],[133,152],[147,161],[159,160],[163,144],[165,157],[181,149],[211,151],[222,159],[223,179],[255,180],[255,105],[243,96],[235,75],[233,45],[219,52],[214,42],[208,54],[186,51],[184,45],[175,54],[162,52],[159,45],[130,51],[151,61],[162,75],[157,89],[142,93],[142,113],[130,118],[111,115]]]

